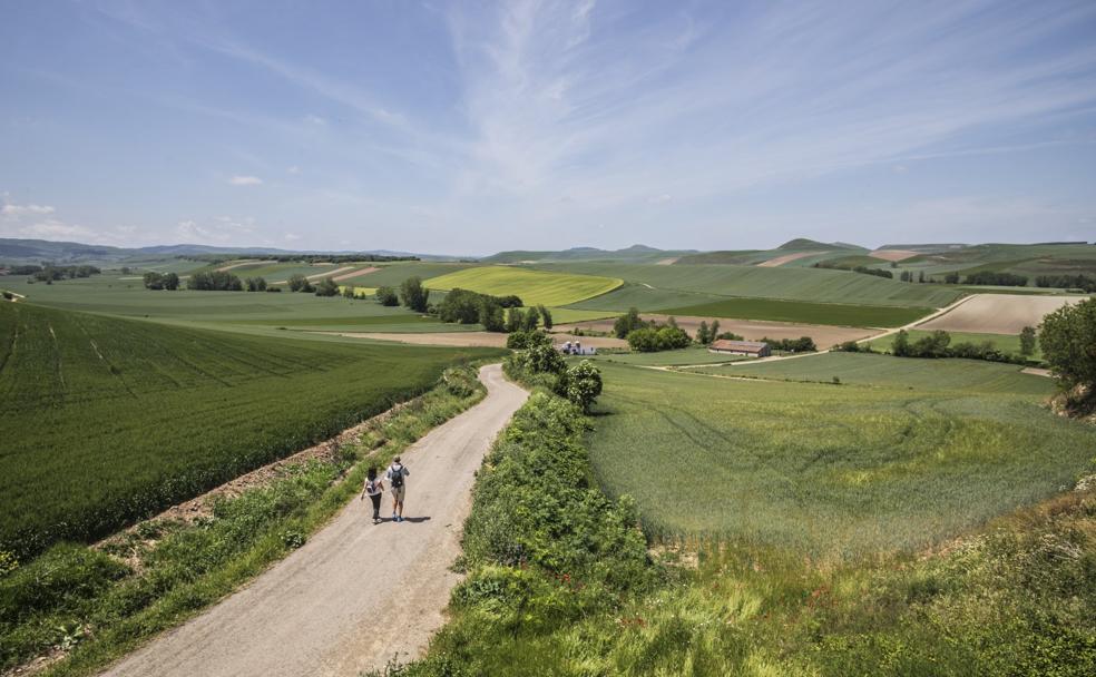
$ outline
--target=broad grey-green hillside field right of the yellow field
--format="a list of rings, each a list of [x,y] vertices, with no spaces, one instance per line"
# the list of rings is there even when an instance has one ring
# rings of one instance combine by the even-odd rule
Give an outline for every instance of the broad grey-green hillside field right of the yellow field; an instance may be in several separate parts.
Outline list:
[[[847,271],[804,267],[763,268],[743,265],[636,265],[614,263],[537,264],[538,271],[601,275],[617,277],[630,285],[620,291],[576,304],[580,308],[627,310],[636,305],[650,312],[667,307],[718,301],[712,296],[777,298],[815,303],[888,305],[901,307],[942,307],[959,297],[960,292],[941,285],[911,284],[860,275]],[[648,290],[643,285],[650,285]],[[657,294],[650,303],[642,295],[625,300],[623,292],[673,292],[682,295],[707,295],[689,302],[672,301]],[[642,292],[640,292],[642,294]],[[637,301],[639,303],[637,303]]]

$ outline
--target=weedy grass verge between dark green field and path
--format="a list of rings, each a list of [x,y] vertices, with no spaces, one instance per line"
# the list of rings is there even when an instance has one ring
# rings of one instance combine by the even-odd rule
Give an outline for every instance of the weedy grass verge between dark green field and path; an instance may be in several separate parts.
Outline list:
[[[301,547],[358,493],[369,465],[485,393],[472,367],[451,369],[334,461],[290,464],[268,485],[217,501],[208,519],[146,522],[102,550],[62,543],[0,569],[0,669],[61,654],[48,675],[86,675],[178,625]]]

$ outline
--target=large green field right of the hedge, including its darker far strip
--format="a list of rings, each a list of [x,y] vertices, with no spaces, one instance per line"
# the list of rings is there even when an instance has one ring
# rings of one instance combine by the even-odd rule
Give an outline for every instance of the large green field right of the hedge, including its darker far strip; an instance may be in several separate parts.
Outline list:
[[[1096,445],[1096,430],[1040,406],[1048,379],[1007,365],[832,354],[723,367],[852,385],[601,366],[593,463],[656,537],[836,558],[918,549],[1071,485]]]

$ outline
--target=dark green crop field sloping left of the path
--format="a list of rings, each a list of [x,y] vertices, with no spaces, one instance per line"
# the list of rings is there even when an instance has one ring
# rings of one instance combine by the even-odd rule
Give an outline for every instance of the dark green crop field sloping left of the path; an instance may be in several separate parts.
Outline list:
[[[0,550],[105,536],[422,392],[456,361],[497,354],[2,303]]]

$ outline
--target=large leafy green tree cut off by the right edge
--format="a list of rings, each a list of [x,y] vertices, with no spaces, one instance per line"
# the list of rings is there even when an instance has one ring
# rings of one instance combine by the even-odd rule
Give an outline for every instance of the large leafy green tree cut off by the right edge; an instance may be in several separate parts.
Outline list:
[[[1039,346],[1050,372],[1067,389],[1096,389],[1096,298],[1065,305],[1043,318]]]

